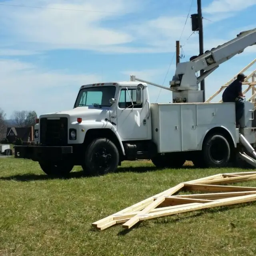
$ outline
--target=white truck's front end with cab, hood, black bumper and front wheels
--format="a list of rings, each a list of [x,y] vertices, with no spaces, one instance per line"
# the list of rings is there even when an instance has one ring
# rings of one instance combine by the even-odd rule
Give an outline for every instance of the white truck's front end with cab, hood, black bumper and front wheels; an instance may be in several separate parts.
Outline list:
[[[34,144],[16,146],[15,157],[38,161],[47,174],[65,173],[64,169],[68,173],[74,165],[81,165],[87,173],[109,172],[123,160],[150,157],[152,128],[146,83],[83,85],[72,110],[43,114],[37,122]],[[97,146],[101,151],[95,153],[98,158],[88,159],[89,148],[97,143],[102,145]],[[113,160],[106,145],[112,153],[114,150],[115,161],[103,167],[102,161]],[[93,165],[94,160],[98,164]]]

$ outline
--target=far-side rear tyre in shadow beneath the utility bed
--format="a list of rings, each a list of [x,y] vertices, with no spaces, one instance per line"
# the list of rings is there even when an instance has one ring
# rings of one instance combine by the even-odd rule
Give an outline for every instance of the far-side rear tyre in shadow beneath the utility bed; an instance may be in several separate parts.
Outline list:
[[[152,163],[157,168],[181,168],[185,162],[185,159],[177,156],[176,158],[170,157],[170,155],[157,155],[151,159]]]

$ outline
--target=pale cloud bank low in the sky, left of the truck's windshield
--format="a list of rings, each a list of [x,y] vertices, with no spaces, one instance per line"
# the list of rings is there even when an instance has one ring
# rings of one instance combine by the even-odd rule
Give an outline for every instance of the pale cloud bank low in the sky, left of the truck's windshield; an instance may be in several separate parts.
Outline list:
[[[101,82],[96,74],[68,74],[66,70],[40,70],[18,60],[0,60],[1,108],[52,112],[73,107],[82,84]],[[42,111],[42,112],[41,112]]]

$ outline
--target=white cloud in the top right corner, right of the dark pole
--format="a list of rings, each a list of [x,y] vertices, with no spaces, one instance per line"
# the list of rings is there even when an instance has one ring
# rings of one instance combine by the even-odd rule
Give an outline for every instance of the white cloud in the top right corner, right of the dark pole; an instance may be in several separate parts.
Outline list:
[[[206,8],[203,8],[203,12],[210,14],[240,12],[255,4],[256,0],[214,0]]]

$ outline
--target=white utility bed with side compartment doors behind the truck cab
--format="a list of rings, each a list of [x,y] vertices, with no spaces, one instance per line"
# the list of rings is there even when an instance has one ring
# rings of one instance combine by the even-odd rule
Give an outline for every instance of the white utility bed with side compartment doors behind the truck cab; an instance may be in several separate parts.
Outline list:
[[[234,103],[151,104],[150,108],[158,152],[201,150],[205,134],[214,127],[227,130],[234,144],[239,141]]]

